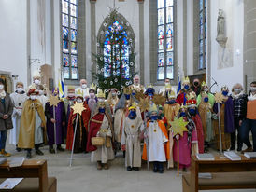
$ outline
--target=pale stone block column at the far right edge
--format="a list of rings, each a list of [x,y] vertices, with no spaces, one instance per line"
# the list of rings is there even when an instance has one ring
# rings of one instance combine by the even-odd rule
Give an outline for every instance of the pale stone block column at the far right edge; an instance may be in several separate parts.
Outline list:
[[[256,1],[244,1],[244,85],[256,80]]]

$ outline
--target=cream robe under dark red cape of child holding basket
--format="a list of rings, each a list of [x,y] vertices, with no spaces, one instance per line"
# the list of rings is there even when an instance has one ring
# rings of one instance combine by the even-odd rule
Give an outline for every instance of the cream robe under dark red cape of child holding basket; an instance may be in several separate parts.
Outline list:
[[[106,137],[112,137],[112,132],[109,126],[109,122],[106,116],[103,118],[103,122],[101,124],[101,128],[99,130],[99,136],[105,138],[106,142]],[[110,147],[106,147],[106,143],[102,146],[97,146],[96,151],[92,151],[91,155],[91,161],[96,162],[96,161],[101,161],[101,163],[107,163],[108,160],[114,159],[114,151],[112,148],[112,144]]]

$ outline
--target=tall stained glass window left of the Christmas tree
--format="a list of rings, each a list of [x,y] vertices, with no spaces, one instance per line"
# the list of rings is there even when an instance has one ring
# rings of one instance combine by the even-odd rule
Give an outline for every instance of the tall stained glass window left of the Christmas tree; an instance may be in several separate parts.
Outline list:
[[[78,1],[61,0],[63,25],[63,76],[78,79]]]

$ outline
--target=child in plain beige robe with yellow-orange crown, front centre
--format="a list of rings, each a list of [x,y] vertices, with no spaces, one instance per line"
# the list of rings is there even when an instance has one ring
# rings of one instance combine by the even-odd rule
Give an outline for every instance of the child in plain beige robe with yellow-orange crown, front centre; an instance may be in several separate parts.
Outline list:
[[[125,167],[127,171],[138,171],[141,167],[140,133],[143,121],[136,114],[136,105],[129,107],[129,115],[125,118],[121,134],[121,148],[125,150]]]

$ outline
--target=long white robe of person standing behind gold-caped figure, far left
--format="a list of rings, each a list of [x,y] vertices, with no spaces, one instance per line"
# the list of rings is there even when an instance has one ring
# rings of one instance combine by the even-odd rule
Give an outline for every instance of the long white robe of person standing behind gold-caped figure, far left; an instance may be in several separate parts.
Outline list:
[[[12,113],[12,124],[13,129],[9,132],[9,144],[18,144],[20,126],[21,126],[21,113],[23,108],[23,103],[26,101],[26,94],[20,94],[13,92],[10,94],[10,98],[14,103],[13,113]]]

